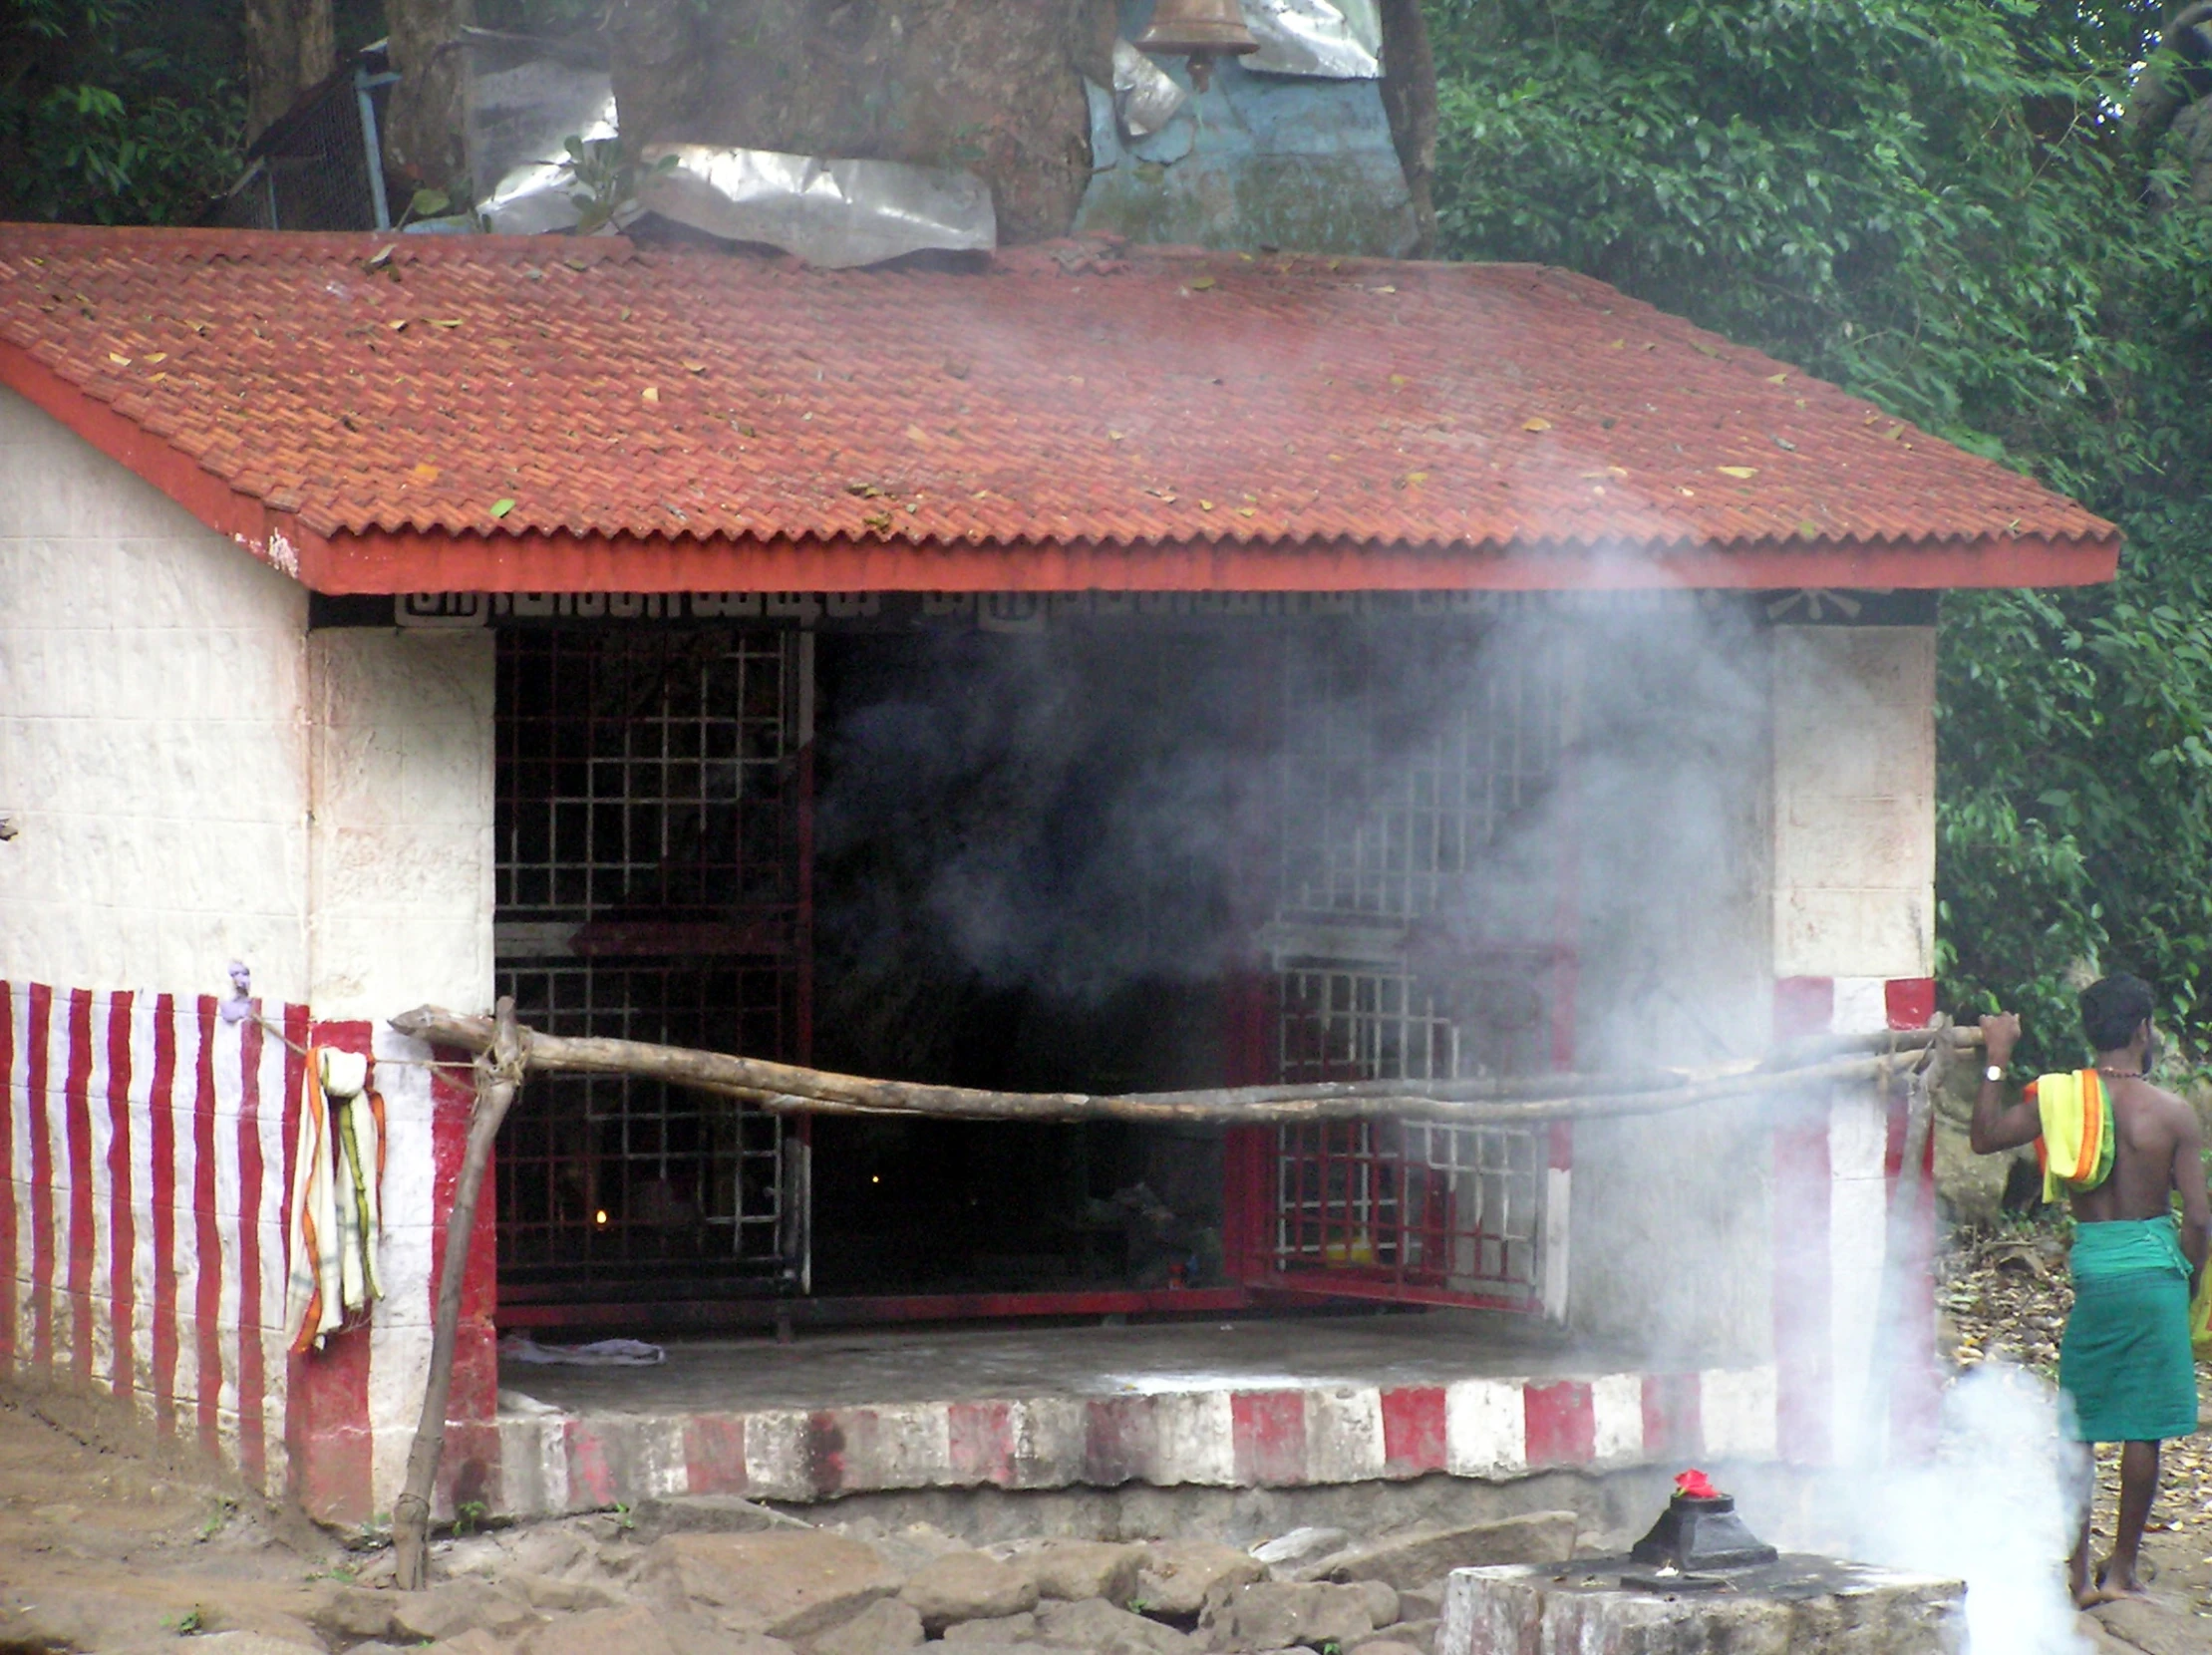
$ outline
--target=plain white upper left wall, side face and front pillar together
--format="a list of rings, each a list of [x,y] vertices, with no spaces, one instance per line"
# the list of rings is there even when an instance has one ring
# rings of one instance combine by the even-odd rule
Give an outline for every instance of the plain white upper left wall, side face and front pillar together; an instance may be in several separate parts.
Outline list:
[[[0,389],[0,978],[491,1002],[489,633],[307,593]]]

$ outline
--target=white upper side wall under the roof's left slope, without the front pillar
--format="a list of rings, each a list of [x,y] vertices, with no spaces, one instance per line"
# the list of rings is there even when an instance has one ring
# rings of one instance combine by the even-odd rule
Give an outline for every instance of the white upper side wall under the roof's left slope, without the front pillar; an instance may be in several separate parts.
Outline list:
[[[0,389],[0,978],[307,998],[307,593]]]

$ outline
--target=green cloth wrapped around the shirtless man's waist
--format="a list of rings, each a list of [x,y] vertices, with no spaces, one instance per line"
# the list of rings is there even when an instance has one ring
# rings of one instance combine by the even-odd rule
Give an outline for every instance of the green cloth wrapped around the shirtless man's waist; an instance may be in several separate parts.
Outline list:
[[[2059,1389],[2077,1443],[2163,1443],[2197,1429],[2190,1261],[2174,1221],[2075,1226],[2075,1308]]]

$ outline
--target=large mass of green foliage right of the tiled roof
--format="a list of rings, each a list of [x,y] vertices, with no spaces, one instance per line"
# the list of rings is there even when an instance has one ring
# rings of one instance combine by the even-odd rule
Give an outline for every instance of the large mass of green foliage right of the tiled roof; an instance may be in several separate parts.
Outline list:
[[[1958,1011],[2022,1009],[2028,1062],[2075,1058],[2081,969],[2212,1044],[2212,219],[2143,208],[2117,122],[2157,7],[1429,18],[1449,252],[1586,270],[2126,529],[2110,589],[1944,600],[1938,969]]]

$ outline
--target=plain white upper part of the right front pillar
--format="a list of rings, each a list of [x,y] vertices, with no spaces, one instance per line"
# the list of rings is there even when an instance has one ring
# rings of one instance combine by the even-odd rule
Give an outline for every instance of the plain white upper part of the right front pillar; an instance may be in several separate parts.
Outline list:
[[[1774,976],[1933,969],[1936,628],[1776,626]]]

